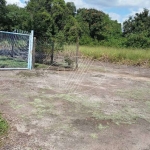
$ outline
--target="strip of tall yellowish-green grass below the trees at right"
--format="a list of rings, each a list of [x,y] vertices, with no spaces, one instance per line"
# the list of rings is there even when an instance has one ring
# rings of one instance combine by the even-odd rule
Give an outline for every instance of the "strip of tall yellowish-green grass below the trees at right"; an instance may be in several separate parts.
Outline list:
[[[150,50],[81,46],[80,52],[101,61],[150,67]]]

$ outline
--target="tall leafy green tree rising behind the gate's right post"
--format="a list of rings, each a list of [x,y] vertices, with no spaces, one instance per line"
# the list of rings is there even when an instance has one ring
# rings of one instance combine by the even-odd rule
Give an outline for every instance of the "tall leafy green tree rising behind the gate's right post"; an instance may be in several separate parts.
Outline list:
[[[37,38],[47,36],[54,40],[64,29],[67,18],[64,0],[30,0],[27,10],[30,12],[32,28]]]

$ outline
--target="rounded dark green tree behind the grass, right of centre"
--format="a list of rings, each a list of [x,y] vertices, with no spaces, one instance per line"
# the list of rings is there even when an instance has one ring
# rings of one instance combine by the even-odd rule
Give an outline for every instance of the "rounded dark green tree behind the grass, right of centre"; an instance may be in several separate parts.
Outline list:
[[[112,21],[107,14],[96,9],[79,9],[77,20],[82,29],[81,44],[108,41],[121,35],[121,25]]]

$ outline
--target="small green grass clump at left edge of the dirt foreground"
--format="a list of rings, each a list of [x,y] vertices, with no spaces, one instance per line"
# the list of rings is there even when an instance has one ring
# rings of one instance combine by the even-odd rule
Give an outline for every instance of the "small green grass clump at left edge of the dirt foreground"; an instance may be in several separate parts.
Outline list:
[[[8,130],[8,123],[0,115],[0,137],[3,136]]]

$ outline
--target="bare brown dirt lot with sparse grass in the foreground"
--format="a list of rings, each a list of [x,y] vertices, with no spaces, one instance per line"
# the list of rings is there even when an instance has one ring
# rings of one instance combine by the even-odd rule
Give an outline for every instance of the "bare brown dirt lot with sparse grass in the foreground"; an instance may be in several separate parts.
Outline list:
[[[0,71],[1,150],[150,150],[150,69]]]

